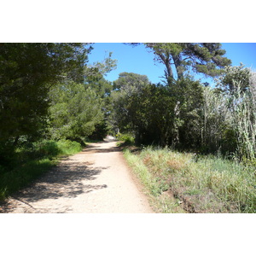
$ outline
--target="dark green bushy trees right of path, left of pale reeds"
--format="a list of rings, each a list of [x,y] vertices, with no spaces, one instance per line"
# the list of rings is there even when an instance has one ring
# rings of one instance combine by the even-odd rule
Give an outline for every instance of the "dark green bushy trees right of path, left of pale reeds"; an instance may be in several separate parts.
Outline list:
[[[148,83],[139,90],[121,86],[113,93],[113,104],[120,131],[133,132],[138,144],[190,149],[201,143],[202,85],[198,81],[184,78],[172,87]]]

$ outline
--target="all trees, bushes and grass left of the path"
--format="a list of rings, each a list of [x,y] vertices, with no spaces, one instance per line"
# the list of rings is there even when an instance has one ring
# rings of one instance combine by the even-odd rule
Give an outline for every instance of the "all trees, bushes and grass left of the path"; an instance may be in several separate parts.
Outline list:
[[[115,67],[91,44],[0,44],[0,201],[107,135]]]

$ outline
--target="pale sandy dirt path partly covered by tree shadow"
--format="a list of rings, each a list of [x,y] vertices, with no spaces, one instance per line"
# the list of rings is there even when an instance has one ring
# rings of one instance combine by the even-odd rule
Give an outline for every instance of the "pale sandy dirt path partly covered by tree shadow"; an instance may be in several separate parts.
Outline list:
[[[153,212],[113,141],[91,143],[62,160],[30,188],[9,198],[3,212]]]

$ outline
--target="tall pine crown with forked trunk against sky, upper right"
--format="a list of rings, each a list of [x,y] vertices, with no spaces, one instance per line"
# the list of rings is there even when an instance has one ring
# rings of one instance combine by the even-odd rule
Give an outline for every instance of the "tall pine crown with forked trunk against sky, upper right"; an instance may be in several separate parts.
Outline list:
[[[221,44],[217,43],[145,43],[145,46],[153,51],[155,61],[166,66],[168,84],[176,78],[173,67],[177,79],[182,79],[188,70],[215,77],[222,72],[221,68],[231,63],[224,57],[225,50],[221,49]]]

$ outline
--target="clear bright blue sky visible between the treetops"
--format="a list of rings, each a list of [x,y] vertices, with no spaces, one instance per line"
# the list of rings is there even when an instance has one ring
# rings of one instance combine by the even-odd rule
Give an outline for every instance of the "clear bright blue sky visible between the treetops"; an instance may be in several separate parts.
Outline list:
[[[106,79],[113,81],[119,78],[119,73],[139,73],[147,75],[152,83],[158,83],[164,75],[164,65],[154,61],[153,53],[148,52],[143,45],[132,47],[120,43],[96,43],[89,55],[89,64],[102,61],[107,52],[113,52],[112,58],[118,60],[117,69],[108,73]],[[224,43],[222,48],[226,50],[226,57],[232,61],[233,66],[239,66],[240,62],[246,67],[256,69],[256,43]],[[212,79],[202,78],[202,82],[213,83]],[[213,84],[212,84],[213,85]]]

